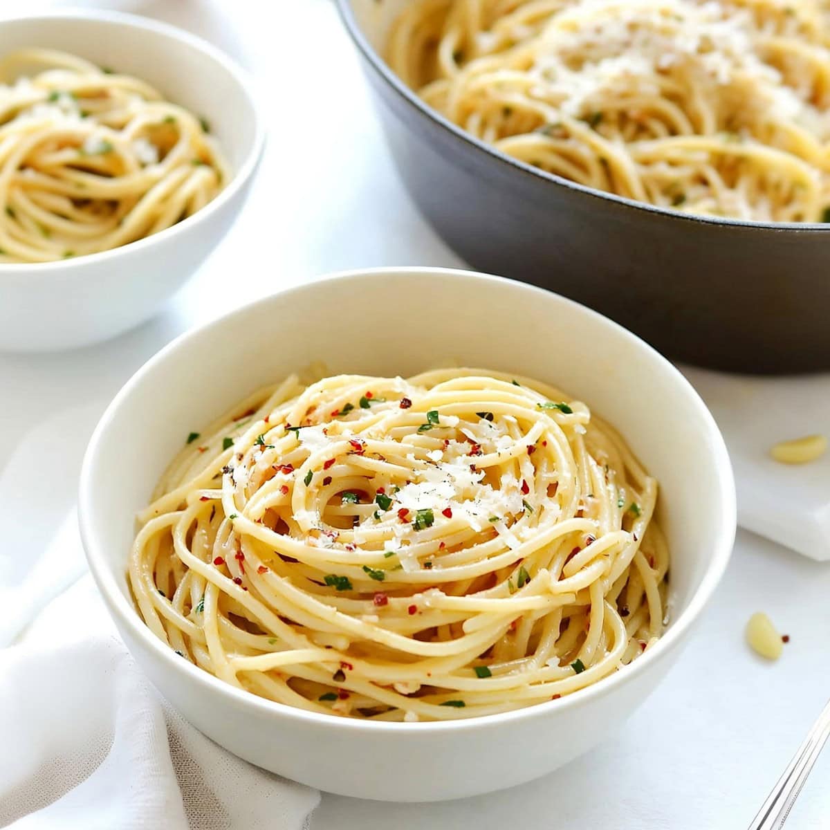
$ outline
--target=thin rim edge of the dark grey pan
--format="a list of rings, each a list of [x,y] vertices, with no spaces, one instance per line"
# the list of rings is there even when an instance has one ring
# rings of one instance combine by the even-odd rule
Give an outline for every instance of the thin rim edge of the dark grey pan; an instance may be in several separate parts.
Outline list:
[[[608,191],[598,190],[597,188],[590,188],[588,185],[572,182],[568,178],[563,178],[556,173],[548,173],[542,168],[535,167],[532,164],[526,164],[519,159],[502,153],[501,150],[496,149],[491,144],[481,139],[476,138],[475,135],[468,133],[466,129],[453,124],[452,121],[445,118],[437,110],[433,110],[431,106],[427,105],[420,95],[410,89],[403,81],[392,71],[383,56],[369,43],[369,39],[364,35],[363,29],[357,22],[354,15],[354,0],[334,0],[340,19],[344,23],[344,27],[349,32],[349,36],[354,41],[355,46],[358,47],[369,66],[371,66],[382,81],[388,85],[400,98],[408,103],[413,110],[417,112],[433,124],[444,129],[448,134],[455,139],[461,141],[475,149],[479,154],[484,154],[490,159],[496,160],[499,164],[505,165],[505,168],[511,168],[525,176],[541,179],[552,184],[569,190],[575,190],[585,196],[601,199],[616,203],[623,207],[631,207],[637,211],[646,214],[666,217],[670,220],[678,222],[691,222],[701,225],[714,225],[721,227],[735,227],[749,233],[759,233],[762,231],[794,231],[794,232],[825,232],[830,233],[830,223],[825,222],[761,222],[754,219],[736,219],[730,217],[716,217],[703,216],[696,213],[684,213],[674,210],[671,207],[661,207],[660,205],[652,205],[647,202],[637,202],[636,199],[628,198],[626,196],[619,196],[617,193],[608,193]]]

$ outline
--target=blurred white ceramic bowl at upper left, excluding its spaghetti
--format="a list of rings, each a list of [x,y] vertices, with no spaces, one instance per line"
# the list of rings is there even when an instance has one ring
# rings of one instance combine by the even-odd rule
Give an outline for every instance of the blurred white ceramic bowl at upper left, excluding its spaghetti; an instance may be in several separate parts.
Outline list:
[[[68,349],[147,320],[183,285],[242,207],[264,134],[246,74],[167,24],[100,10],[4,20],[0,55],[22,46],[69,51],[148,81],[207,118],[233,172],[211,203],[152,237],[77,259],[0,265],[0,349]]]

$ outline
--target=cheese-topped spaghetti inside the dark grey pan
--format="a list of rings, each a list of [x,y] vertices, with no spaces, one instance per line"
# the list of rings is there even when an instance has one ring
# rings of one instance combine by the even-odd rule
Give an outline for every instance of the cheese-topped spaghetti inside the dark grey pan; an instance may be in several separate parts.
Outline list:
[[[590,188],[830,221],[830,17],[812,0],[417,0],[388,61],[476,138]]]

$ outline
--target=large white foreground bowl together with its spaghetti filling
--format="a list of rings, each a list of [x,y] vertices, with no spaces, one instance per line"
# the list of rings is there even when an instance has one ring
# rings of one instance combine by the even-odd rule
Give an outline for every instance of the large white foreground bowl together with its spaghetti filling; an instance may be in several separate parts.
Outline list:
[[[318,361],[328,378],[298,380]],[[397,801],[520,784],[602,740],[735,534],[724,443],[671,364],[557,295],[431,268],[184,334],[105,413],[79,504],[122,637],[188,720]]]

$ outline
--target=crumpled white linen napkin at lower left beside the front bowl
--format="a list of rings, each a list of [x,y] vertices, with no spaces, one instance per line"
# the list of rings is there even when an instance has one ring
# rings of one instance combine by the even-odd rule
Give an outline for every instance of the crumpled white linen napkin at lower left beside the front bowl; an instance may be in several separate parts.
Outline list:
[[[82,562],[76,530],[51,547]],[[320,800],[173,711],[88,574],[0,650],[0,735],[0,827],[13,830],[301,830]]]

